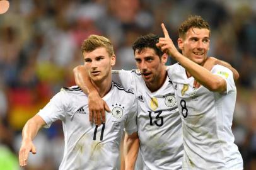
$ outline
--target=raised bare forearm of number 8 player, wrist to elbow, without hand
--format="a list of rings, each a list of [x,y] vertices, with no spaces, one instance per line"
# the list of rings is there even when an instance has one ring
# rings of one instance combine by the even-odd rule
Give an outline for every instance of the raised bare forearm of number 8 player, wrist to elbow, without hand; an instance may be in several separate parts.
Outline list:
[[[173,55],[173,57],[191,74],[191,76],[210,91],[226,90],[226,82],[222,77],[212,74],[207,69],[187,59],[187,57],[179,52]]]

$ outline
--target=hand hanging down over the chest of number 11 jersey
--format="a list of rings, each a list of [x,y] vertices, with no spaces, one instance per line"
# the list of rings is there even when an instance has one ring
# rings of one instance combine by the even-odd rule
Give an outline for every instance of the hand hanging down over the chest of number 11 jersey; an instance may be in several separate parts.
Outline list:
[[[110,108],[98,93],[90,93],[88,96],[89,120],[91,123],[100,126],[105,123],[105,111],[110,112]]]

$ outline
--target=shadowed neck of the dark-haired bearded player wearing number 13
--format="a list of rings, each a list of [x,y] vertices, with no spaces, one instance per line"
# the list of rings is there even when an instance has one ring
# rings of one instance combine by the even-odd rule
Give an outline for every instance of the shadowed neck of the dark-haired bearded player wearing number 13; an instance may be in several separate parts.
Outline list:
[[[158,91],[163,86],[167,76],[166,70],[161,71],[160,76],[156,77],[153,82],[146,82],[146,86],[151,92]]]

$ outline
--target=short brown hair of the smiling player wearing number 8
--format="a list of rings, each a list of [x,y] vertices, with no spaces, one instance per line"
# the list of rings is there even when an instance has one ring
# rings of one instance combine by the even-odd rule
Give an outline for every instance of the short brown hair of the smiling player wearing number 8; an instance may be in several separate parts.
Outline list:
[[[187,20],[183,21],[183,23],[178,28],[178,36],[180,38],[185,38],[185,35],[190,28],[206,28],[211,33],[210,26],[207,21],[198,15],[189,16]]]

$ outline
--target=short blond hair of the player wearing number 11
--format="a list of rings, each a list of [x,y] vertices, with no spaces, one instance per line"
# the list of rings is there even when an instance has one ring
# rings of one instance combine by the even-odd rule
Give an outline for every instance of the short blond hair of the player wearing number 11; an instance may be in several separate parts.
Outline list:
[[[99,47],[105,47],[110,57],[114,55],[113,45],[110,42],[110,40],[100,35],[90,35],[90,37],[86,38],[82,43],[81,51],[82,53],[92,52],[93,50]]]

